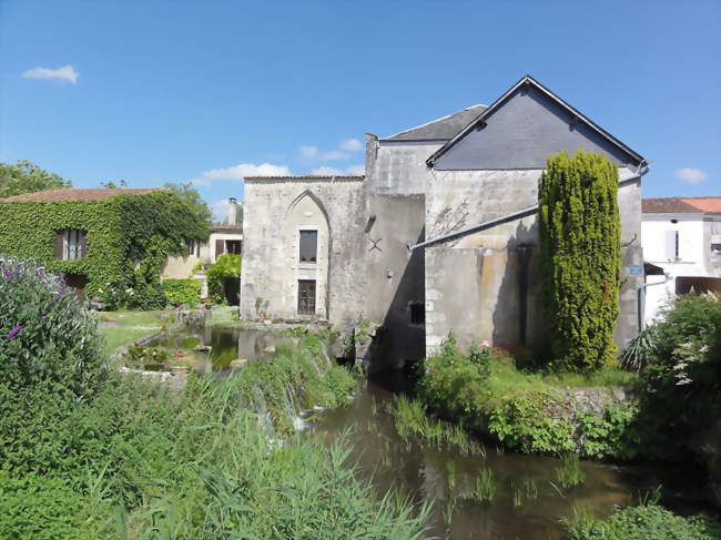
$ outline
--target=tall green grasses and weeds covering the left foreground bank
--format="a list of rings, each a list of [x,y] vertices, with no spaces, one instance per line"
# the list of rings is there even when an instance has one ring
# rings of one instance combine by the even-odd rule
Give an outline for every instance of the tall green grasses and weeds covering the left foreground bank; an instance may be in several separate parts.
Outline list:
[[[322,349],[307,336],[236,377],[191,377],[182,393],[118,377],[78,401],[50,386],[14,391],[0,381],[0,490],[11,493],[0,497],[2,530],[30,534],[34,511],[57,539],[79,530],[108,539],[419,538],[427,509],[416,517],[393,497],[376,501],[344,445],[294,435],[293,400],[334,405],[353,385],[315,356]]]

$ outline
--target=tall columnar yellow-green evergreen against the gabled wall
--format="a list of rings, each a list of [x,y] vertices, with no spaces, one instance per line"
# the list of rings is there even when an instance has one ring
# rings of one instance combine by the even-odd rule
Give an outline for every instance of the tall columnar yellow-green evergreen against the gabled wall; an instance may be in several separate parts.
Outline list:
[[[611,365],[621,272],[616,165],[563,152],[548,159],[538,191],[554,363],[581,371]]]

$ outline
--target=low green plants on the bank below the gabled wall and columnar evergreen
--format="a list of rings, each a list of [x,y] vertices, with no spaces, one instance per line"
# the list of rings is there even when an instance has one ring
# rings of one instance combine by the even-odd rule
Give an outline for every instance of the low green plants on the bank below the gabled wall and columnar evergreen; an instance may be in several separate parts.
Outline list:
[[[601,416],[577,411],[563,386],[628,380],[618,370],[550,375],[521,373],[502,351],[487,346],[464,354],[453,336],[426,360],[418,385],[428,409],[467,429],[526,454],[579,452],[629,459],[639,444],[637,409],[609,403]]]

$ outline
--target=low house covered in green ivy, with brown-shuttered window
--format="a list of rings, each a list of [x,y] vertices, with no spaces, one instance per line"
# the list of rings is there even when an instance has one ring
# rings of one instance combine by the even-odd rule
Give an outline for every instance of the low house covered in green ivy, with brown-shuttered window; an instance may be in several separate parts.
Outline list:
[[[64,189],[0,200],[0,254],[45,264],[109,308],[162,307],[165,261],[207,235],[207,224],[166,189]]]

